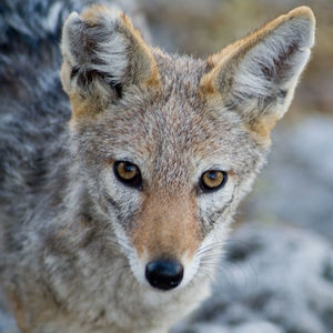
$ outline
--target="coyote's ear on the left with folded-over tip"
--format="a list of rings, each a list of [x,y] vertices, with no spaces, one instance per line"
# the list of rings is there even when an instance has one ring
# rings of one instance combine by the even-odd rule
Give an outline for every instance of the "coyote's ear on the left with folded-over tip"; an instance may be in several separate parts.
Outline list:
[[[61,48],[61,80],[73,117],[97,113],[132,84],[160,84],[151,49],[121,11],[92,6],[81,16],[71,13]]]

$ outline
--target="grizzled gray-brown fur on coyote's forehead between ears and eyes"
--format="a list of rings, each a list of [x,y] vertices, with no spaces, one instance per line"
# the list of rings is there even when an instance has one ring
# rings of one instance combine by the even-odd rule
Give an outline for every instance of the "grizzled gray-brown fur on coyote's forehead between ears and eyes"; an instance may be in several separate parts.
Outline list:
[[[258,160],[262,147],[260,152],[253,150],[259,144],[236,113],[208,105],[200,94],[205,62],[164,56],[159,50],[154,56],[163,71],[159,91],[132,87],[95,118],[75,120],[78,138],[84,142],[82,150],[89,150],[89,160],[154,161],[150,172],[174,176],[186,169],[182,164],[195,163],[195,169],[205,159],[216,161],[216,157],[224,157],[224,162],[244,173],[244,165],[250,163],[241,157]]]

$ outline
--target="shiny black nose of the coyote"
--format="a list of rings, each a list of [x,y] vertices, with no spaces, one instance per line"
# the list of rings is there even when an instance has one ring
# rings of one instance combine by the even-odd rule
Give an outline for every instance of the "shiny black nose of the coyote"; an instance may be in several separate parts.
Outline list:
[[[170,290],[176,287],[184,274],[182,264],[176,261],[159,259],[145,266],[145,278],[157,289]]]

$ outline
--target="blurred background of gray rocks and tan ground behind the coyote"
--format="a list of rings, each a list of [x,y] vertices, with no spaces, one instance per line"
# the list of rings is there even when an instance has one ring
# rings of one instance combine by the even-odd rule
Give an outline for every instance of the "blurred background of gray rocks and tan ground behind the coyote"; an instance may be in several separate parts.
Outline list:
[[[193,57],[219,51],[296,6],[314,10],[312,61],[239,210],[213,296],[173,333],[332,333],[333,1],[137,2],[155,46]],[[4,332],[16,332],[14,323],[0,312]]]

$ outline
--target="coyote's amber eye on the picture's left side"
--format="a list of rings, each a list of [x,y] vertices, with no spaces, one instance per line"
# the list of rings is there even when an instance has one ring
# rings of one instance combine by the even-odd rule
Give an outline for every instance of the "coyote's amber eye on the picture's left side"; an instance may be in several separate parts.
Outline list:
[[[127,161],[117,161],[114,162],[113,170],[118,180],[121,181],[123,184],[141,190],[141,172],[135,164]]]

